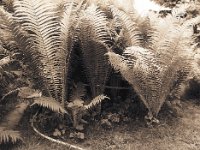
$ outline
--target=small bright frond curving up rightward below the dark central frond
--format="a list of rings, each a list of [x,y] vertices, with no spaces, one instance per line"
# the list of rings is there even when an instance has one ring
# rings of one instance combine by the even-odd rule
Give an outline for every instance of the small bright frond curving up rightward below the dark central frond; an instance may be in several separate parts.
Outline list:
[[[95,97],[88,105],[84,105],[84,109],[89,110],[100,104],[104,99],[110,99],[110,98],[105,95],[99,95]]]

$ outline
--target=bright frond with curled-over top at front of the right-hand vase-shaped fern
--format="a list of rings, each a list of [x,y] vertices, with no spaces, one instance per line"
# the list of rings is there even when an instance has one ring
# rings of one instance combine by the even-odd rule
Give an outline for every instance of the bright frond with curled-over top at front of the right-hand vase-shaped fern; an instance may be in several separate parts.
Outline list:
[[[113,56],[115,58],[112,58]],[[151,110],[150,103],[158,101],[160,83],[158,74],[161,66],[155,54],[141,47],[130,47],[124,51],[123,56],[117,58],[116,54],[112,54],[109,57],[113,66],[117,65],[114,60],[121,60],[126,69],[120,68],[120,73],[132,85],[145,106]]]

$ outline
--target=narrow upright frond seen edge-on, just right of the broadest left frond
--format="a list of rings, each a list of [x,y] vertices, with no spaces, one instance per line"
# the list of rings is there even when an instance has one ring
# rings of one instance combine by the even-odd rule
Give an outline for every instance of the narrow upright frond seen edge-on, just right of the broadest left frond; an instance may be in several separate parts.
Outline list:
[[[64,101],[66,100],[67,96],[67,79],[68,73],[70,68],[70,60],[71,55],[74,47],[74,43],[76,41],[76,28],[78,27],[78,19],[77,14],[80,9],[81,5],[72,0],[70,2],[64,3],[64,11],[61,12],[61,28],[60,28],[60,41],[61,45],[60,48],[63,49],[63,53],[61,54],[61,59],[63,60],[63,73],[62,78],[64,82],[62,83],[62,105],[64,106]]]

